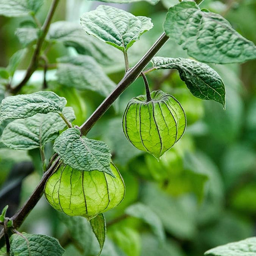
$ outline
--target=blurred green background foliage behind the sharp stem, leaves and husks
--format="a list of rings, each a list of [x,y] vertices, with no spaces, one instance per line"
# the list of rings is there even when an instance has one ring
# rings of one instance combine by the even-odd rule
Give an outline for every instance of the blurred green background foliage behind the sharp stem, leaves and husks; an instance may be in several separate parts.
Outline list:
[[[50,3],[45,0],[36,14],[38,23],[44,22]],[[134,15],[151,17],[154,23],[154,28],[129,49],[131,65],[163,32],[167,8],[175,3],[176,0],[161,0],[155,6],[147,2],[111,4]],[[79,62],[79,58],[83,58],[81,55],[90,55],[97,61],[102,68],[99,76],[104,72],[108,75],[105,80],[118,83],[124,74],[122,52],[95,42],[80,30],[79,15],[99,4],[105,3],[60,2],[54,22],[65,22],[51,26],[44,46],[49,61],[47,84],[43,82],[41,67],[21,92],[32,93],[47,87],[47,90],[66,97],[68,105],[76,112],[77,125],[84,122],[105,96],[100,89],[84,84],[83,74],[88,68]],[[204,0],[201,7],[223,15],[241,35],[256,44],[255,0]],[[17,84],[29,64],[36,33],[32,29],[31,34],[27,30],[24,34],[22,28],[33,28],[34,23],[31,17],[0,16],[1,99],[7,96],[3,86],[6,79]],[[65,35],[69,28],[72,33],[77,28],[77,32]],[[26,52],[18,52],[11,58],[25,47]],[[157,55],[188,58],[172,38]],[[63,66],[67,57],[69,62],[72,60],[72,64],[81,67],[81,72],[74,75],[76,79],[63,70],[67,68]],[[9,67],[9,74],[5,67]],[[161,89],[175,96],[187,116],[184,136],[159,162],[130,145],[122,132],[122,113],[128,101],[144,94],[141,78],[120,96],[115,108],[108,110],[88,134],[90,138],[104,140],[111,147],[112,160],[126,185],[124,201],[105,214],[108,239],[103,256],[198,256],[220,244],[256,235],[256,61],[211,64],[211,67],[226,85],[225,111],[217,102],[192,96],[176,70],[158,70],[148,75],[151,90]],[[64,73],[67,77],[61,79]],[[2,124],[0,131],[4,126]],[[51,144],[47,145],[46,154],[48,157],[52,155]],[[39,151],[13,151],[1,145],[0,170],[0,208],[9,204],[7,215],[11,216],[40,180]],[[149,214],[128,208],[138,202]],[[21,230],[58,238],[66,249],[66,256],[96,255],[99,250],[85,219],[59,215],[44,198]]]

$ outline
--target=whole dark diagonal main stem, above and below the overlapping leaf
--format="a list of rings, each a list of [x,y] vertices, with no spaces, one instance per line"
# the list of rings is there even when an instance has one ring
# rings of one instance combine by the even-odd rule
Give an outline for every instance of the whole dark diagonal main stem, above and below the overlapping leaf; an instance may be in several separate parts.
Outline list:
[[[102,102],[101,105],[93,112],[93,114],[81,125],[80,130],[83,135],[86,135],[88,131],[93,127],[93,125],[99,120],[99,118],[110,108],[113,102],[121,95],[121,93],[129,86],[133,81],[140,76],[143,68],[148,64],[151,58],[158,52],[158,50],[163,47],[169,37],[163,33],[160,38],[154,43],[154,45],[145,53],[143,58],[130,70],[125,73],[125,76],[117,84],[116,88],[112,93]],[[25,220],[29,212],[35,207],[41,196],[43,195],[44,185],[47,182],[48,178],[52,175],[55,168],[58,166],[60,157],[57,157],[55,162],[49,169],[44,173],[41,181],[38,186],[32,192],[28,200],[23,204],[23,206],[12,216],[11,220],[13,221],[13,227],[18,228]],[[0,239],[3,237],[3,233],[0,232]]]

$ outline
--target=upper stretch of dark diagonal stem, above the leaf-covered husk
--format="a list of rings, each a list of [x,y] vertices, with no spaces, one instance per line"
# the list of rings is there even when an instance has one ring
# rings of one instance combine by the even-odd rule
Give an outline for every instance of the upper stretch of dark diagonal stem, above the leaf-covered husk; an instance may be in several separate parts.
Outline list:
[[[169,37],[163,33],[160,38],[154,43],[154,45],[145,53],[140,61],[131,69],[129,69],[122,80],[117,84],[111,94],[99,105],[99,107],[92,113],[92,115],[80,126],[80,130],[83,135],[86,135],[93,125],[100,119],[100,117],[110,108],[113,102],[122,94],[122,92],[131,85],[144,67],[148,64],[151,58],[159,51],[161,47],[167,42]]]

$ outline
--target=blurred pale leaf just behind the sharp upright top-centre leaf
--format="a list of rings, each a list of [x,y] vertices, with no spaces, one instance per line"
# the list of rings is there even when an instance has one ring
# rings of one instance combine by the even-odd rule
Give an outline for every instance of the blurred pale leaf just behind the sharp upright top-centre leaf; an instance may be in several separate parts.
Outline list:
[[[117,49],[88,35],[77,23],[68,21],[52,23],[49,28],[49,38],[52,41],[62,42],[66,47],[74,47],[79,54],[93,56],[100,64],[123,63],[123,56]]]

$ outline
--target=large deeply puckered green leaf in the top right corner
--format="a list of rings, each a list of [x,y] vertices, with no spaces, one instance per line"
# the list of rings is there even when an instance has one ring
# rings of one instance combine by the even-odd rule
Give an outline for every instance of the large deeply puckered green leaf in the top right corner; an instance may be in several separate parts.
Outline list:
[[[193,1],[171,7],[164,23],[166,34],[199,61],[244,62],[256,58],[256,46],[243,38],[218,14],[200,10]]]

